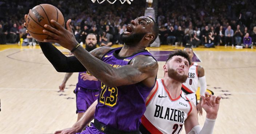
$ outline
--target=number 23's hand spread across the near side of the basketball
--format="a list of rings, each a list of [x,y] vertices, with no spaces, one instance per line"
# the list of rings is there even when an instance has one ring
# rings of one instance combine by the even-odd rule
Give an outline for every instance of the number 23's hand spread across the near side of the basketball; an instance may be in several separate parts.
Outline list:
[[[44,25],[43,33],[52,37],[52,39],[44,39],[44,42],[56,42],[67,48],[68,50],[72,50],[78,42],[76,41],[75,35],[73,34],[71,28],[71,20],[67,21],[67,29],[63,28],[59,23],[55,20],[51,20],[51,25]]]

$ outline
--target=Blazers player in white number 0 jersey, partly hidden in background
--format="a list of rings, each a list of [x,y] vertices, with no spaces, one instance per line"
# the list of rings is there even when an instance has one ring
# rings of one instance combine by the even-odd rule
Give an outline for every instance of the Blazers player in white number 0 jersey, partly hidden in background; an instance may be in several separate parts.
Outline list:
[[[199,113],[199,115],[202,115],[203,114],[203,110],[201,107],[202,98],[200,98],[199,103],[197,103],[196,90],[199,82],[200,96],[204,96],[204,93],[206,92],[206,80],[204,76],[204,68],[199,66],[197,63],[192,62],[192,57],[194,56],[192,48],[186,47],[184,48],[184,51],[188,53],[191,65],[188,71],[188,79],[186,80],[186,82],[182,84],[181,90],[196,105],[197,113]]]

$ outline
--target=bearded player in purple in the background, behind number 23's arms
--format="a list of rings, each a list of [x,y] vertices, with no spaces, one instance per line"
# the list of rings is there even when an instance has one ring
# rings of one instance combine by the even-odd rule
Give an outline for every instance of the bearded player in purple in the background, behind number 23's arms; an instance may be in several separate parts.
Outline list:
[[[97,39],[95,34],[90,33],[87,35],[85,40],[85,50],[90,52],[96,48]],[[62,84],[59,86],[61,91],[64,91],[66,82],[73,73],[66,73]],[[79,72],[78,82],[76,84],[76,113],[77,121],[82,117],[84,112],[88,109],[92,103],[97,100],[99,96],[100,82],[92,76],[88,71]]]

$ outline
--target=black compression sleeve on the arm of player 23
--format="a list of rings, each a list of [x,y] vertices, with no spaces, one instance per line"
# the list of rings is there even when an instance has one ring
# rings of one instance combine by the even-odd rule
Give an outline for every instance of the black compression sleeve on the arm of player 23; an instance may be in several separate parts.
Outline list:
[[[61,53],[55,46],[48,42],[39,43],[45,57],[51,62],[57,72],[84,72],[86,68],[75,56],[67,57]]]

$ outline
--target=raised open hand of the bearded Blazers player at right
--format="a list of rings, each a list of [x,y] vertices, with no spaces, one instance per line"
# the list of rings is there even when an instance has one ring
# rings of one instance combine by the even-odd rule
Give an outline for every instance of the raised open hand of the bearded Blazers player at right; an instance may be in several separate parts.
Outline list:
[[[205,92],[205,96],[201,96],[202,103],[201,106],[206,111],[206,117],[209,119],[216,119],[221,96],[213,96],[212,94]]]

